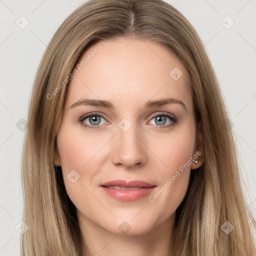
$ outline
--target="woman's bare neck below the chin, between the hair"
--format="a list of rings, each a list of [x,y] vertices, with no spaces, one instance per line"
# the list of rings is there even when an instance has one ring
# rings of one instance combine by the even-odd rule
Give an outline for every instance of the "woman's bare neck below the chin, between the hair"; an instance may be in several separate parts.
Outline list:
[[[77,218],[83,241],[81,256],[172,255],[170,245],[175,213],[150,231],[132,235],[108,232],[87,219],[79,210]]]

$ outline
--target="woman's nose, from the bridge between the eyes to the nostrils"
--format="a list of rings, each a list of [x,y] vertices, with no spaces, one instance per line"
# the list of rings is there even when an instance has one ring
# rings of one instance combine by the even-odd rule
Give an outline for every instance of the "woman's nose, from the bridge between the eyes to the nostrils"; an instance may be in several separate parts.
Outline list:
[[[141,133],[137,132],[136,125],[131,125],[126,131],[118,128],[113,141],[112,162],[132,168],[145,164],[146,159],[146,146]]]

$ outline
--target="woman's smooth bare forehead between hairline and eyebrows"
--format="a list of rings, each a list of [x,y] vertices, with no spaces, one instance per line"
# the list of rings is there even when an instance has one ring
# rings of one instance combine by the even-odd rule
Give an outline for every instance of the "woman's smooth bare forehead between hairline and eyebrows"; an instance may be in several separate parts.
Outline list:
[[[78,59],[65,105],[82,97],[114,100],[114,106],[175,97],[191,103],[187,72],[165,47],[148,40],[99,41]]]

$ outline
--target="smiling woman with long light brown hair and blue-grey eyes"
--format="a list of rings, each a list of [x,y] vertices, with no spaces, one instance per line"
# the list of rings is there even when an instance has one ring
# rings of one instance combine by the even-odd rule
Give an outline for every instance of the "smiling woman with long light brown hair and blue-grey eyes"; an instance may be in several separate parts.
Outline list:
[[[22,255],[254,255],[209,59],[161,0],[90,0],[53,35],[22,156]]]

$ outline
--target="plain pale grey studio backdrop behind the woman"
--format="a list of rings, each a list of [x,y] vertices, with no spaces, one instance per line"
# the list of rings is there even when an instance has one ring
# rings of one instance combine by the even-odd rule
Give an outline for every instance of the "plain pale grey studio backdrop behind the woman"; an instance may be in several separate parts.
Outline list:
[[[256,217],[256,1],[166,0],[194,26],[230,116],[247,207]],[[0,255],[20,255],[21,150],[42,54],[82,0],[0,0]]]

